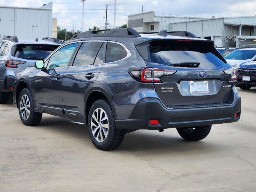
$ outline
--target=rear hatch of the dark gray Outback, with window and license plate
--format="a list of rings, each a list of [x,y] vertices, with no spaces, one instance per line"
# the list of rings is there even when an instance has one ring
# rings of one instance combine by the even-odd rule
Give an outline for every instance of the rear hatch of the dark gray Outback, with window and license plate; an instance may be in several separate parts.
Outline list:
[[[165,106],[185,107],[221,104],[228,101],[234,82],[223,70],[231,68],[211,41],[153,40],[137,46],[148,50],[148,68],[175,70],[154,82]],[[141,54],[143,56],[143,54]]]

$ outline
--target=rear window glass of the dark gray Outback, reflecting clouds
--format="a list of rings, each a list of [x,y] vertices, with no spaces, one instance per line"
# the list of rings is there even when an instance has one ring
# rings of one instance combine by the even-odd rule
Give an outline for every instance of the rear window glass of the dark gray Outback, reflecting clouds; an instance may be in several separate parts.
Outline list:
[[[211,68],[226,63],[210,42],[154,41],[149,49],[151,62],[164,65],[194,62],[199,68]]]

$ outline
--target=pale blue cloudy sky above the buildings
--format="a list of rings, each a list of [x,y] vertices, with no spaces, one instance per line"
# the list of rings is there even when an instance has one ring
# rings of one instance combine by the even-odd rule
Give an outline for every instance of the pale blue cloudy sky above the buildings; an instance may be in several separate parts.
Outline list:
[[[0,0],[4,6],[40,7],[50,0]],[[67,30],[82,28],[82,2],[80,0],[52,0],[53,17],[58,26],[64,28],[63,22],[69,22]],[[230,17],[252,16],[256,14],[256,0],[116,0],[116,25],[126,24],[129,14],[155,10],[156,15],[195,16],[195,17]],[[86,0],[84,28],[104,26],[106,4],[108,4],[108,22],[114,25],[114,0]]]

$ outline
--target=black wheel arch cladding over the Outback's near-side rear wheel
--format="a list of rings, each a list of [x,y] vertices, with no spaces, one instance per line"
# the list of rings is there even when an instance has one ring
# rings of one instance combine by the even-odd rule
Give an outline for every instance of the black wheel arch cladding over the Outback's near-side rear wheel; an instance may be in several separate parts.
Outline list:
[[[106,99],[108,101],[108,103],[111,106],[112,112],[114,114],[114,119],[116,120],[117,116],[116,116],[116,110],[114,107],[114,96],[108,84],[95,83],[88,87],[88,89],[86,90],[86,95],[84,97],[84,101],[85,101],[84,114],[86,116],[86,123],[88,123],[87,117],[90,111],[90,107],[98,99]]]

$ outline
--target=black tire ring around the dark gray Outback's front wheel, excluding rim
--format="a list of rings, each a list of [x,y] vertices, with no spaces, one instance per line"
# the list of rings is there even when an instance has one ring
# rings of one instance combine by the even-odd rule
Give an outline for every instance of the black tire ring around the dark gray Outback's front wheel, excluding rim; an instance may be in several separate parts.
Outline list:
[[[20,100],[22,98],[23,95],[28,96],[29,102],[30,102],[30,114],[27,120],[22,118],[21,112],[20,112]],[[21,121],[25,124],[25,125],[32,125],[34,122],[34,118],[35,118],[35,112],[34,112],[34,101],[32,99],[32,95],[31,92],[28,88],[24,88],[21,92],[20,92],[20,96],[19,96],[19,100],[18,100],[18,110],[19,110],[19,114],[20,114],[20,119]]]

